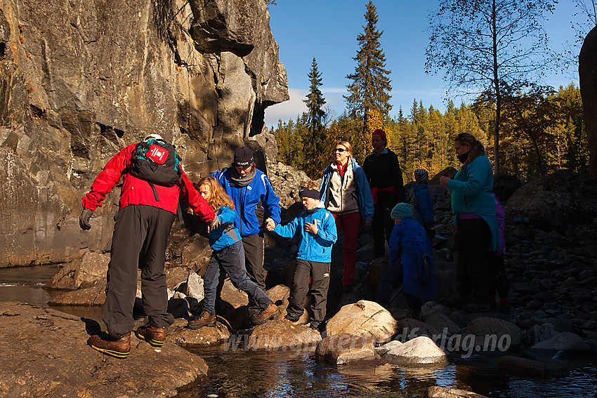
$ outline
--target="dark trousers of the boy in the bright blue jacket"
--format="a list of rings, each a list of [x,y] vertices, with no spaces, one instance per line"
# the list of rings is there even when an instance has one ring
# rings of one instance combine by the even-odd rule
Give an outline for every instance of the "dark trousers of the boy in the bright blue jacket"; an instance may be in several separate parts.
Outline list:
[[[324,321],[329,288],[329,265],[330,263],[296,260],[288,298],[288,319],[297,321],[301,317],[303,301],[309,293],[311,296],[310,310],[313,313],[313,317],[310,319],[311,326],[317,327]],[[311,288],[309,288],[309,279]]]

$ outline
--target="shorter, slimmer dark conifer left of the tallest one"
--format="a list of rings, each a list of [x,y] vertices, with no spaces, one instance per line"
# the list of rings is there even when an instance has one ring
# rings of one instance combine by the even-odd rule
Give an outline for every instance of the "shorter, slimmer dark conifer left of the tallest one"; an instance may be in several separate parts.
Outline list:
[[[308,109],[307,126],[309,130],[308,139],[304,140],[304,149],[306,154],[306,164],[304,171],[309,176],[315,175],[325,164],[323,147],[325,126],[324,118],[326,112],[323,109],[325,99],[323,98],[320,86],[322,85],[321,73],[317,70],[317,61],[313,58],[311,70],[307,75],[310,81],[310,92],[303,100]],[[327,161],[327,157],[325,157]]]

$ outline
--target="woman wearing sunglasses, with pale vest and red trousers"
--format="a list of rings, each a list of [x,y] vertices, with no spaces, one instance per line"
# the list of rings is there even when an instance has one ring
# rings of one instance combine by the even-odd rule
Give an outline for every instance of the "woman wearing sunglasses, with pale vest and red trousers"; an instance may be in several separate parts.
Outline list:
[[[361,221],[369,227],[373,218],[369,183],[352,152],[349,142],[339,141],[336,144],[334,161],[324,170],[320,185],[322,203],[334,215],[336,230],[344,232],[342,286],[345,292],[353,289]]]

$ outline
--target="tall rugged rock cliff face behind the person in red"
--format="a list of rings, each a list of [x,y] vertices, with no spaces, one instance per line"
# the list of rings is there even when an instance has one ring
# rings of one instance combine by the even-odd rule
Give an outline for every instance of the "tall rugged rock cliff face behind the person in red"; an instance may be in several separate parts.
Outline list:
[[[264,110],[287,99],[263,0],[1,0],[0,267],[109,249],[119,192],[91,233],[80,198],[145,133],[197,180],[272,142]]]

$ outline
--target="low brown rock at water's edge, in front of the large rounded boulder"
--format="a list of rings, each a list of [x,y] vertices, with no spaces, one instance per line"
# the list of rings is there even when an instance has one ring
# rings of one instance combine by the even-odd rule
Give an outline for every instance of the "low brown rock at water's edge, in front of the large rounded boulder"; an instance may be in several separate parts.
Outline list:
[[[348,364],[376,358],[373,341],[361,336],[339,333],[327,336],[317,345],[315,359],[329,364]]]

